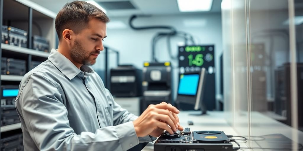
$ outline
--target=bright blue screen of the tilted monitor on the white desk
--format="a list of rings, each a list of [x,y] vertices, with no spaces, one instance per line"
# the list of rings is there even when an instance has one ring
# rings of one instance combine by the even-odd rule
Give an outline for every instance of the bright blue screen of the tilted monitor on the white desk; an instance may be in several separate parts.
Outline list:
[[[179,81],[179,95],[196,95],[199,83],[198,74],[181,75]]]

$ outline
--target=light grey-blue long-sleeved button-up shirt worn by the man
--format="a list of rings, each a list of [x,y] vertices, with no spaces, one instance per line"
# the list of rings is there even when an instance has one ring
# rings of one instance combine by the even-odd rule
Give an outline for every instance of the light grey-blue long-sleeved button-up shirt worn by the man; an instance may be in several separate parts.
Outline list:
[[[55,49],[23,77],[16,108],[25,151],[125,151],[151,141],[137,137],[138,117],[114,101],[94,69],[78,69]]]

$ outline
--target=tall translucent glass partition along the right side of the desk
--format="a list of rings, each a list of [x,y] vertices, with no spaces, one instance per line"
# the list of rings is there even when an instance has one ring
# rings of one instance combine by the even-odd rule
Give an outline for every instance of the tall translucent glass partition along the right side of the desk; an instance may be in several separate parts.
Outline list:
[[[303,149],[302,23],[303,1],[222,1],[225,111],[253,150]]]

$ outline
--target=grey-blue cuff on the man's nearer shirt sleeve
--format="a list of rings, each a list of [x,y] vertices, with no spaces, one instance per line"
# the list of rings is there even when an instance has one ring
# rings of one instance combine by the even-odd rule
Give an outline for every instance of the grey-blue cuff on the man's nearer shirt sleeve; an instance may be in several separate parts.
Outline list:
[[[119,142],[124,151],[139,144],[134,124],[132,121],[115,126]]]

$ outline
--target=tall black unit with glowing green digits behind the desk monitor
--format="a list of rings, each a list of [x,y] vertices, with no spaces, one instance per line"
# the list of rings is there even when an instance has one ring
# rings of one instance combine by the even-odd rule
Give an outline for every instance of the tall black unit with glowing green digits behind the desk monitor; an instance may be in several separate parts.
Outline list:
[[[180,74],[186,72],[197,72],[201,68],[208,71],[207,81],[205,85],[205,106],[208,110],[216,108],[216,93],[215,93],[215,46],[214,45],[185,45],[178,47],[179,71]],[[182,110],[192,110],[193,105],[181,102]]]

